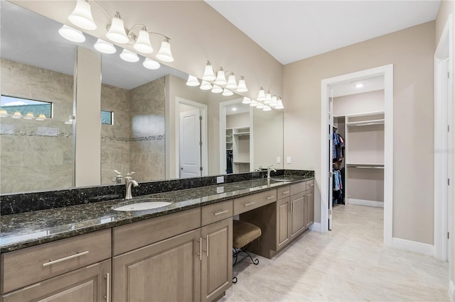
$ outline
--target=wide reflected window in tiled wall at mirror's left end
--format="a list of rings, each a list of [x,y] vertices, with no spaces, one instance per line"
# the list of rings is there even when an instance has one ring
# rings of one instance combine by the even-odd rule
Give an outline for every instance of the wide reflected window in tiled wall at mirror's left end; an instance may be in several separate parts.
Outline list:
[[[22,116],[32,113],[33,116],[44,114],[46,118],[52,118],[53,104],[47,101],[36,101],[31,99],[21,99],[14,96],[1,96],[0,108],[8,114],[13,115],[20,112]]]

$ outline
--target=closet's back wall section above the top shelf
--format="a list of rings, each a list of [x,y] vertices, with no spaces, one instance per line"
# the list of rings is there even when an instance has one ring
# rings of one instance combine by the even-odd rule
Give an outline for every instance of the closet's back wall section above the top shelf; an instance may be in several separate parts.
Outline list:
[[[333,98],[333,116],[384,111],[384,90]]]

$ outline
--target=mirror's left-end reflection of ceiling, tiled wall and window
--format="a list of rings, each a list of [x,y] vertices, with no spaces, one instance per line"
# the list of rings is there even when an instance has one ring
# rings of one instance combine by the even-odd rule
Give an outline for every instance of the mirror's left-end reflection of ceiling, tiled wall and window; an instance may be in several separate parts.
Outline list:
[[[70,188],[75,46],[58,35],[60,23],[0,5],[0,192]]]

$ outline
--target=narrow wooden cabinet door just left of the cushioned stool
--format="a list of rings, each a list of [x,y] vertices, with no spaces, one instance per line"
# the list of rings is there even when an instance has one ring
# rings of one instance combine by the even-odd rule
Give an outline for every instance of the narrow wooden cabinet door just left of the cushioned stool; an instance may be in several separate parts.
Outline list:
[[[232,218],[201,229],[200,300],[213,301],[232,284]]]

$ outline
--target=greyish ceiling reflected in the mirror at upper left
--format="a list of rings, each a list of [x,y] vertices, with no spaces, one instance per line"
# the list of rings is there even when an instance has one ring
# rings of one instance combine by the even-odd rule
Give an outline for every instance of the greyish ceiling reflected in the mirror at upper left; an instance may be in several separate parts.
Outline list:
[[[61,23],[45,18],[7,1],[0,1],[1,16],[1,57],[23,62],[27,65],[50,69],[55,72],[73,75],[75,46],[80,45],[96,51],[97,41],[85,33],[84,43],[73,43],[58,34]],[[122,47],[112,55],[102,55],[102,83],[123,89],[133,89],[142,84],[159,79],[166,74],[187,79],[188,75],[166,65],[151,70],[139,62],[131,63],[120,59]]]

